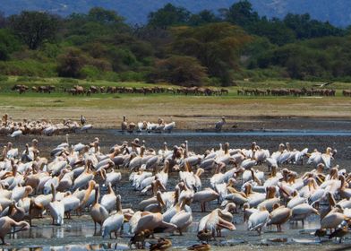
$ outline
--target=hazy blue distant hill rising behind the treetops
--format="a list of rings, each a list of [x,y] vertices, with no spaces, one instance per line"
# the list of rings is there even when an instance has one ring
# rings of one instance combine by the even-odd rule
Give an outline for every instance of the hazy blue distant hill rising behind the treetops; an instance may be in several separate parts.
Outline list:
[[[127,22],[143,23],[148,13],[167,3],[184,6],[196,13],[203,9],[217,11],[227,8],[238,0],[1,0],[0,11],[6,15],[22,10],[37,10],[68,15],[86,13],[93,6],[113,9]],[[310,13],[313,19],[329,21],[337,26],[351,24],[351,0],[252,0],[260,15],[284,17],[287,13]]]

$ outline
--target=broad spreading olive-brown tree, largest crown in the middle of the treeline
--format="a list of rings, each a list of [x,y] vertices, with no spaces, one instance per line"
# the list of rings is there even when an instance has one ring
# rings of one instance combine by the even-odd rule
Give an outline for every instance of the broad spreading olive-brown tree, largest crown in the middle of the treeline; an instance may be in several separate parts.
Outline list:
[[[199,27],[174,29],[171,50],[194,56],[218,77],[224,86],[232,82],[232,72],[238,68],[240,50],[250,37],[239,27],[227,22],[210,23]]]

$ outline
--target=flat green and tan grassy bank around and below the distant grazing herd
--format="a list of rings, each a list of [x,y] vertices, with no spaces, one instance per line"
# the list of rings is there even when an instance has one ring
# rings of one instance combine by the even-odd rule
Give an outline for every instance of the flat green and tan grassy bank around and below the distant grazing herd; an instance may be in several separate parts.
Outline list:
[[[224,96],[184,96],[162,94],[92,94],[90,97],[72,96],[62,91],[51,94],[28,91],[24,94],[11,91],[15,83],[29,86],[53,84],[60,88],[71,88],[74,84],[95,86],[152,86],[145,82],[87,82],[58,78],[35,78],[24,82],[21,78],[10,77],[1,82],[0,110],[13,118],[77,119],[84,114],[89,123],[96,127],[116,127],[121,117],[129,121],[155,121],[158,117],[170,120],[173,117],[177,128],[209,128],[218,117],[226,116],[229,122],[253,119],[255,117],[328,117],[330,119],[351,118],[351,98],[342,97],[341,91],[349,83],[335,82],[330,88],[337,90],[337,97],[252,97],[237,95],[242,88],[311,88],[315,82],[238,82],[228,88]],[[164,85],[175,87],[172,85]],[[350,87],[351,89],[351,87]]]

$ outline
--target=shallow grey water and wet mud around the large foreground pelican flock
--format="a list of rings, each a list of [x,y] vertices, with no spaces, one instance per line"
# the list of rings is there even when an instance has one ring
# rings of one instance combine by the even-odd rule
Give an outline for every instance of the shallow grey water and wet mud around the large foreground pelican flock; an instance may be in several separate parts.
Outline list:
[[[14,147],[23,147],[24,143],[30,143],[32,138],[39,139],[39,149],[42,156],[49,157],[49,152],[55,145],[64,142],[64,135],[47,137],[42,135],[23,136],[20,139],[13,139],[0,136],[0,143],[3,145],[7,141],[12,140]],[[123,141],[131,141],[138,137],[146,141],[147,147],[158,150],[164,142],[168,143],[171,148],[175,144],[189,141],[191,151],[202,153],[206,149],[218,148],[219,143],[229,142],[230,147],[250,147],[251,142],[256,141],[262,148],[277,151],[278,143],[291,143],[292,147],[302,149],[308,147],[310,151],[318,148],[323,151],[327,146],[338,149],[336,162],[340,164],[340,168],[351,167],[351,131],[311,131],[311,130],[294,130],[294,131],[249,131],[249,132],[230,132],[230,133],[214,133],[214,132],[186,132],[175,131],[172,134],[121,134],[116,130],[99,130],[94,129],[88,134],[71,134],[70,143],[89,143],[94,137],[99,137],[101,149],[107,152],[115,143]],[[24,149],[21,149],[24,150]],[[259,169],[267,170],[264,166]],[[301,173],[312,167],[294,166],[288,167]],[[137,210],[137,204],[149,196],[140,195],[133,191],[133,187],[129,184],[127,172],[123,171],[123,181],[118,188],[118,192],[122,195],[123,207],[131,207]],[[202,187],[209,186],[210,174],[203,177]],[[167,188],[172,189],[178,180],[176,173],[171,173]],[[217,208],[217,202],[212,202],[208,206],[209,210]],[[169,234],[157,234],[159,236],[167,236],[172,239],[173,249],[184,249],[199,243],[196,238],[197,222],[206,213],[200,212],[200,205],[193,204],[194,223],[184,236],[170,236]],[[128,233],[128,224],[124,224],[124,232],[121,238],[103,239],[100,236],[94,236],[94,224],[88,213],[81,217],[73,216],[73,220],[65,220],[63,227],[51,226],[51,220],[46,217],[42,220],[35,220],[33,223],[37,227],[33,227],[28,231],[20,232],[15,235],[14,239],[6,238],[7,242],[12,244],[11,247],[5,247],[4,250],[101,250],[101,249],[119,249],[128,248],[128,242],[131,238]],[[312,233],[315,229],[320,228],[319,217],[315,215],[308,218],[304,222],[304,226],[299,222],[286,223],[283,225],[283,232],[277,233],[276,229],[270,227],[258,236],[256,232],[248,232],[247,226],[243,223],[243,214],[235,214],[234,218],[236,230],[233,232],[223,231],[225,238],[218,238],[210,243],[213,249],[219,250],[278,250],[282,245],[287,250],[327,250],[330,248],[340,247],[335,240],[323,239],[323,244],[319,238],[314,238]],[[156,242],[156,239],[150,239],[148,242]],[[347,237],[345,242],[351,245],[351,239]],[[150,244],[148,244],[150,245]],[[267,249],[267,248],[269,249]],[[227,249],[226,249],[227,248]],[[228,249],[229,248],[229,249]],[[1,247],[0,247],[1,249]]]

